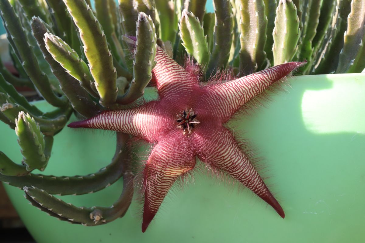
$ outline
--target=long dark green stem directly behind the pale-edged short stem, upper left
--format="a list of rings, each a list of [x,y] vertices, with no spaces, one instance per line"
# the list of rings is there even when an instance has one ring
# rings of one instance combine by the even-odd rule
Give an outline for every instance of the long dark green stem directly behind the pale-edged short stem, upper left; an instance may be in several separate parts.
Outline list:
[[[53,74],[59,80],[61,89],[71,102],[73,108],[87,118],[96,115],[98,112],[97,107],[95,106],[95,102],[89,97],[88,92],[80,86],[80,82],[77,79],[65,72],[65,69],[61,64],[59,64],[48,51],[48,49],[53,47],[51,41],[48,43],[48,40],[53,38],[53,35],[47,33],[48,31],[49,30],[47,30],[41,19],[38,19],[37,17],[32,18],[33,35],[37,39],[45,59],[49,63]]]

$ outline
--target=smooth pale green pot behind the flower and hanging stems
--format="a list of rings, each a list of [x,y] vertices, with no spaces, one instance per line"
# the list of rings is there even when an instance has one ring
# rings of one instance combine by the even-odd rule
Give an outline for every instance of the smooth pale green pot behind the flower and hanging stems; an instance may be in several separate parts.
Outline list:
[[[328,78],[326,78],[328,77]],[[272,95],[241,124],[244,137],[264,156],[261,175],[283,206],[280,216],[248,190],[209,176],[169,193],[156,219],[141,232],[137,201],[122,219],[85,227],[60,222],[27,204],[23,192],[9,196],[38,242],[361,242],[365,225],[365,74],[303,76],[287,92]],[[43,107],[43,103],[39,103]],[[0,125],[0,149],[22,158],[15,132]],[[114,153],[109,132],[65,128],[55,137],[45,173],[87,174]],[[122,188],[62,199],[78,206],[110,205]],[[176,193],[178,192],[178,193]]]

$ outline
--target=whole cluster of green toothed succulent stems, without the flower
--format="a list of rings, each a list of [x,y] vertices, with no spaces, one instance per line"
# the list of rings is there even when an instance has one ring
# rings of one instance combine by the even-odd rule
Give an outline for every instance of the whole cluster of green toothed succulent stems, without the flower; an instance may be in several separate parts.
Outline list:
[[[0,62],[0,120],[15,129],[24,157],[17,164],[0,152],[0,180],[24,189],[32,205],[60,220],[99,225],[123,216],[133,195],[130,138],[124,133],[117,133],[115,156],[99,172],[31,172],[45,169],[53,136],[72,113],[90,118],[142,97],[154,83],[160,47],[178,63],[186,54],[193,57],[201,82],[223,69],[242,76],[304,59],[301,74],[365,67],[363,0],[214,0],[214,13],[205,12],[205,3],[119,0],[118,6],[95,0],[92,9],[90,0],[0,0],[17,70],[14,75]],[[29,103],[15,88],[22,86],[55,110],[44,113]],[[79,208],[51,196],[96,192],[121,177],[122,195],[110,208]]]

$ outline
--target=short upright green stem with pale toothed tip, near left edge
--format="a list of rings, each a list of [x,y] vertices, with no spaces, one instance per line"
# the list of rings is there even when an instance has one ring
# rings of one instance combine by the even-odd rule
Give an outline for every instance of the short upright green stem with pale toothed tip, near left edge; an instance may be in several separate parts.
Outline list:
[[[18,136],[20,151],[23,154],[23,162],[27,171],[39,169],[44,171],[49,157],[45,155],[44,150],[46,142],[41,133],[41,129],[36,124],[34,118],[23,111],[15,119],[15,133]]]

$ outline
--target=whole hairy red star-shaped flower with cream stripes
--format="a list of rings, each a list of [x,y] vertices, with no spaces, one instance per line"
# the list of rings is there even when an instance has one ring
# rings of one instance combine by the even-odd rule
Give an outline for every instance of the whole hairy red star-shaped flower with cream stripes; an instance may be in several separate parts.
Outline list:
[[[142,232],[173,183],[194,168],[196,158],[234,177],[284,218],[280,204],[224,124],[246,102],[303,63],[285,63],[233,81],[204,86],[160,47],[155,60],[153,79],[159,100],[133,109],[103,111],[69,125],[128,133],[154,144],[143,169]]]

